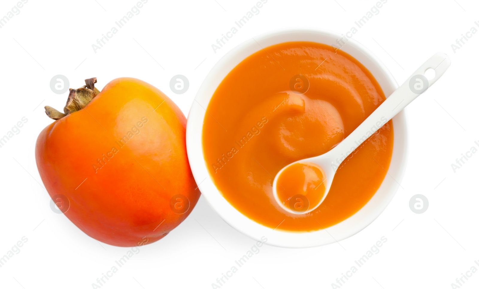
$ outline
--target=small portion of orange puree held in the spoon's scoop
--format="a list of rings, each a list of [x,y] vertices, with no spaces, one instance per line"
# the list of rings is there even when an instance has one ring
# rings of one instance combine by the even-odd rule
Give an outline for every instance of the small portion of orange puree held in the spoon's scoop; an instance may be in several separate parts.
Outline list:
[[[276,181],[279,201],[297,213],[316,207],[326,192],[321,167],[313,163],[296,163],[281,172]]]

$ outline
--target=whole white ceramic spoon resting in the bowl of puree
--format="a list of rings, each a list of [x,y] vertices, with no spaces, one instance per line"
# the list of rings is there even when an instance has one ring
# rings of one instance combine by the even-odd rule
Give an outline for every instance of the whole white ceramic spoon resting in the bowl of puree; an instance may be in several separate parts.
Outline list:
[[[392,119],[399,111],[402,111],[412,100],[416,99],[426,89],[428,89],[437,79],[439,79],[447,70],[451,61],[444,53],[437,53],[429,58],[421,67],[412,74],[398,89],[396,89],[364,122],[362,122],[351,134],[349,134],[341,143],[332,148],[329,152],[321,155],[302,159],[283,167],[274,178],[273,194],[278,204],[286,211],[295,214],[305,214],[315,210],[323,202],[331,188],[331,183],[336,170],[342,161],[349,156],[359,145],[361,145],[369,136],[375,133],[386,122]],[[428,69],[433,69],[435,76],[427,79],[424,73]],[[322,169],[325,191],[318,204],[304,208],[303,210],[292,210],[285,206],[279,199],[277,184],[278,177],[285,168],[297,163],[313,163]],[[280,184],[281,186],[281,184]],[[321,192],[318,192],[321,193]]]

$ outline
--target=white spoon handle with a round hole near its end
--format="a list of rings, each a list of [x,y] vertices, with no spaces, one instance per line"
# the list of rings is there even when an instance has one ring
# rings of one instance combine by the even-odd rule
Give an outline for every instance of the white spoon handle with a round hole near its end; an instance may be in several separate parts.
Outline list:
[[[337,169],[342,161],[369,136],[433,85],[445,73],[450,64],[451,60],[444,53],[437,53],[424,62],[364,122],[330,151],[333,169]],[[427,79],[424,75],[429,68],[435,71],[435,76],[432,79]]]

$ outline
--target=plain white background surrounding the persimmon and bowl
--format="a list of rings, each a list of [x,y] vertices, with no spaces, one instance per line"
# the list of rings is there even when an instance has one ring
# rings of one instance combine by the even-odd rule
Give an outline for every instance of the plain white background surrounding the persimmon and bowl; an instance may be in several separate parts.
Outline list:
[[[2,0],[0,17],[16,2]],[[269,0],[214,53],[211,44],[256,2],[149,0],[96,53],[91,44],[137,0],[30,0],[0,29],[0,136],[22,117],[28,119],[0,148],[0,256],[23,236],[28,238],[20,253],[0,267],[1,288],[92,288],[128,250],[98,243],[49,207],[34,145],[51,123],[43,106],[61,109],[68,96],[50,89],[53,76],[66,76],[71,88],[96,77],[100,89],[114,78],[139,78],[166,93],[186,115],[205,75],[237,44],[287,27],[346,33],[376,0]],[[382,236],[388,241],[380,252],[342,288],[452,288],[461,273],[472,266],[479,269],[474,263],[479,260],[479,153],[456,172],[451,168],[461,154],[479,147],[474,143],[479,141],[479,33],[459,50],[451,48],[471,27],[479,29],[474,23],[478,11],[479,3],[472,0],[388,0],[354,34],[399,84],[435,52],[445,52],[452,60],[445,75],[407,108],[409,163],[401,188],[360,233],[316,248],[264,245],[222,288],[332,288]],[[169,85],[177,74],[190,81],[181,95]],[[422,214],[409,207],[415,194],[429,200]],[[141,247],[102,288],[212,288],[254,243],[200,198],[180,226]],[[476,272],[462,288],[478,286]]]

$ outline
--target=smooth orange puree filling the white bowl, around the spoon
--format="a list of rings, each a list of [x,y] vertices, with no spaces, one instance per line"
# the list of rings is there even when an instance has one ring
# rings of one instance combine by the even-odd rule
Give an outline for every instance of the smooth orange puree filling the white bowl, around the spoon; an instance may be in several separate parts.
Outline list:
[[[259,50],[228,73],[206,108],[202,141],[210,176],[233,207],[264,226],[305,232],[342,222],[386,176],[391,121],[344,159],[313,211],[284,210],[274,199],[274,177],[290,163],[331,150],[385,99],[373,75],[332,46],[286,42]]]

